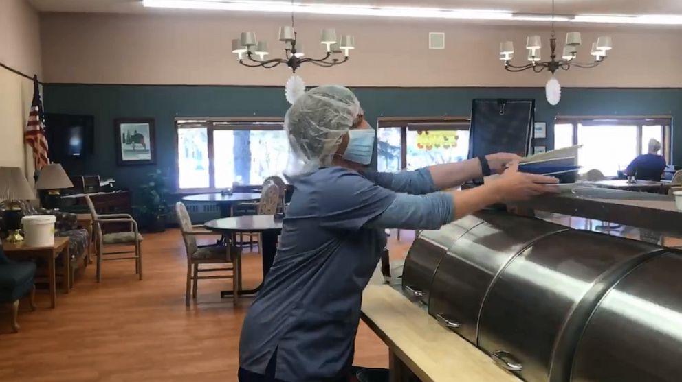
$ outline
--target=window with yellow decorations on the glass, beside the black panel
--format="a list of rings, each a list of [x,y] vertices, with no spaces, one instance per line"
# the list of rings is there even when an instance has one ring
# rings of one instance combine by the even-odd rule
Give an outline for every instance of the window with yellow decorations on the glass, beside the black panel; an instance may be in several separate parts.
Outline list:
[[[381,121],[377,131],[377,169],[395,172],[458,162],[469,153],[469,122]]]

